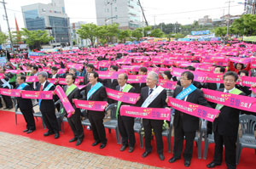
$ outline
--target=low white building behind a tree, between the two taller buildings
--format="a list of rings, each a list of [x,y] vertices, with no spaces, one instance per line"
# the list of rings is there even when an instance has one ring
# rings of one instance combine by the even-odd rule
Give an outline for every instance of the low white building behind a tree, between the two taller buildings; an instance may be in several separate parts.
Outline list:
[[[77,31],[81,28],[81,25],[84,25],[84,24],[86,24],[86,22],[79,21],[76,23],[72,23],[71,25],[71,28],[72,28],[71,37],[72,37],[72,41],[75,42],[75,44],[73,44],[74,46],[88,47],[90,45],[89,39],[81,39],[77,34]]]

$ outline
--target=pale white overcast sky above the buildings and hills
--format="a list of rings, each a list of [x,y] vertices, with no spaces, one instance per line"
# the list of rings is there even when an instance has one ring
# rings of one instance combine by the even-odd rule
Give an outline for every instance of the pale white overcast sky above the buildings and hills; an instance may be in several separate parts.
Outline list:
[[[118,1],[118,0],[117,0]],[[218,19],[228,14],[228,0],[141,0],[149,25],[165,23],[191,24],[194,20],[210,15]],[[242,14],[245,0],[232,0],[230,14]],[[15,31],[15,16],[20,28],[24,27],[21,6],[33,3],[50,3],[50,0],[5,0],[9,25]],[[85,21],[96,23],[95,0],[65,0],[66,12],[71,22]],[[3,4],[0,3],[0,25],[3,32],[8,31],[3,20]]]

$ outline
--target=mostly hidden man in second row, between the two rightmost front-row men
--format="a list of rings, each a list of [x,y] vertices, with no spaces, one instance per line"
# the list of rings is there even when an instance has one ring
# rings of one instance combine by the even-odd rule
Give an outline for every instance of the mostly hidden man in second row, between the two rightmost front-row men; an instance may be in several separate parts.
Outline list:
[[[216,66],[213,73],[214,74],[223,74],[225,72],[225,68],[223,66]],[[218,90],[219,88],[224,88],[224,84],[223,83],[212,83],[212,82],[206,82],[203,85],[203,88],[208,88],[211,90]],[[214,103],[209,102],[209,104],[212,106],[212,108],[215,108]],[[211,134],[212,133],[212,122],[211,121],[207,121],[207,133]]]

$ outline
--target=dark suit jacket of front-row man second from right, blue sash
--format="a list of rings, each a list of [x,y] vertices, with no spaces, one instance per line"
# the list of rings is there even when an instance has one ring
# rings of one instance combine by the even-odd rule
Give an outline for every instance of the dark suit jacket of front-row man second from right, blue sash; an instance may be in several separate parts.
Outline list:
[[[174,90],[173,98],[183,91],[183,87],[176,87]],[[210,104],[207,103],[207,99],[204,98],[203,92],[196,88],[194,92],[189,93],[186,102],[190,102],[193,104],[201,104],[207,107],[211,107]],[[174,127],[177,127],[177,123],[179,119],[182,118],[183,121],[183,130],[184,132],[195,132],[199,129],[199,118],[193,115],[188,115],[181,111],[175,110]]]

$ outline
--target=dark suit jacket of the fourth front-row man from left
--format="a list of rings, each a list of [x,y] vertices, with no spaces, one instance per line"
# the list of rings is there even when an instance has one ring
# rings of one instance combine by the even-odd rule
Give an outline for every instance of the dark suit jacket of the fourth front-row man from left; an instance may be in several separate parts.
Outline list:
[[[87,94],[90,91],[91,88],[91,84],[87,85],[85,87],[85,100],[87,99]],[[107,101],[107,92],[106,92],[106,88],[105,87],[100,87],[95,93],[93,93],[90,96],[90,99],[92,101]],[[95,113],[99,113],[99,111],[91,111],[89,110],[88,112],[95,112]]]

